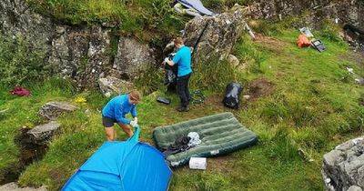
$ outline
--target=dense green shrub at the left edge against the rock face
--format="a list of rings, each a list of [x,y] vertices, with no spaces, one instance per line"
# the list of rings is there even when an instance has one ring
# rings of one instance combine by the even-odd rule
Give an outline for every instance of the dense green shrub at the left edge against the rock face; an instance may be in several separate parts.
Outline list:
[[[25,37],[0,35],[0,84],[20,85],[38,81],[47,74],[45,51]]]

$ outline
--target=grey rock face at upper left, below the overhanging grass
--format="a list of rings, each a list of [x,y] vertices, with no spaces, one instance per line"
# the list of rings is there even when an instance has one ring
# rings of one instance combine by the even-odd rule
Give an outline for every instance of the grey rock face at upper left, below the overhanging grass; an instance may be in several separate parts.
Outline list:
[[[106,75],[132,80],[147,65],[155,64],[148,45],[112,34],[116,25],[59,25],[36,14],[25,0],[0,2],[0,35],[25,38],[45,52],[47,75],[69,77],[82,88],[96,86],[98,78]],[[112,40],[117,47],[111,47]],[[114,51],[116,56],[111,54]]]

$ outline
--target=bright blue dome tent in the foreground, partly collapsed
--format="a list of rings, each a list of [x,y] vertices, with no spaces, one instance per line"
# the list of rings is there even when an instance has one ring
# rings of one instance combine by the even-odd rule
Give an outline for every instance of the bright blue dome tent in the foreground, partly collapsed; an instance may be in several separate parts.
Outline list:
[[[127,141],[106,142],[63,186],[63,191],[165,191],[172,171],[155,147],[137,141],[140,128]]]

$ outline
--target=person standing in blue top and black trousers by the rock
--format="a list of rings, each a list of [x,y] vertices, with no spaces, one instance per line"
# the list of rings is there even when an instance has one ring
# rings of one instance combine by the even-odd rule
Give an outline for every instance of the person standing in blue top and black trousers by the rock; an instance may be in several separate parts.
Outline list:
[[[177,94],[181,100],[181,106],[177,108],[179,112],[187,112],[189,110],[189,101],[191,96],[188,90],[189,77],[192,74],[191,68],[191,50],[188,46],[184,45],[183,39],[177,37],[174,40],[177,47],[177,53],[172,60],[168,58],[165,59],[167,65],[177,65]]]

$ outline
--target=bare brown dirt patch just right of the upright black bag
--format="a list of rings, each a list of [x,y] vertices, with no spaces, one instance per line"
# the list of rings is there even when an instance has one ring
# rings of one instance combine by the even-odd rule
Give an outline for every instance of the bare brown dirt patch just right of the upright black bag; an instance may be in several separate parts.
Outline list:
[[[270,95],[276,89],[276,85],[266,79],[257,79],[249,85],[249,100],[254,101],[258,97]]]

